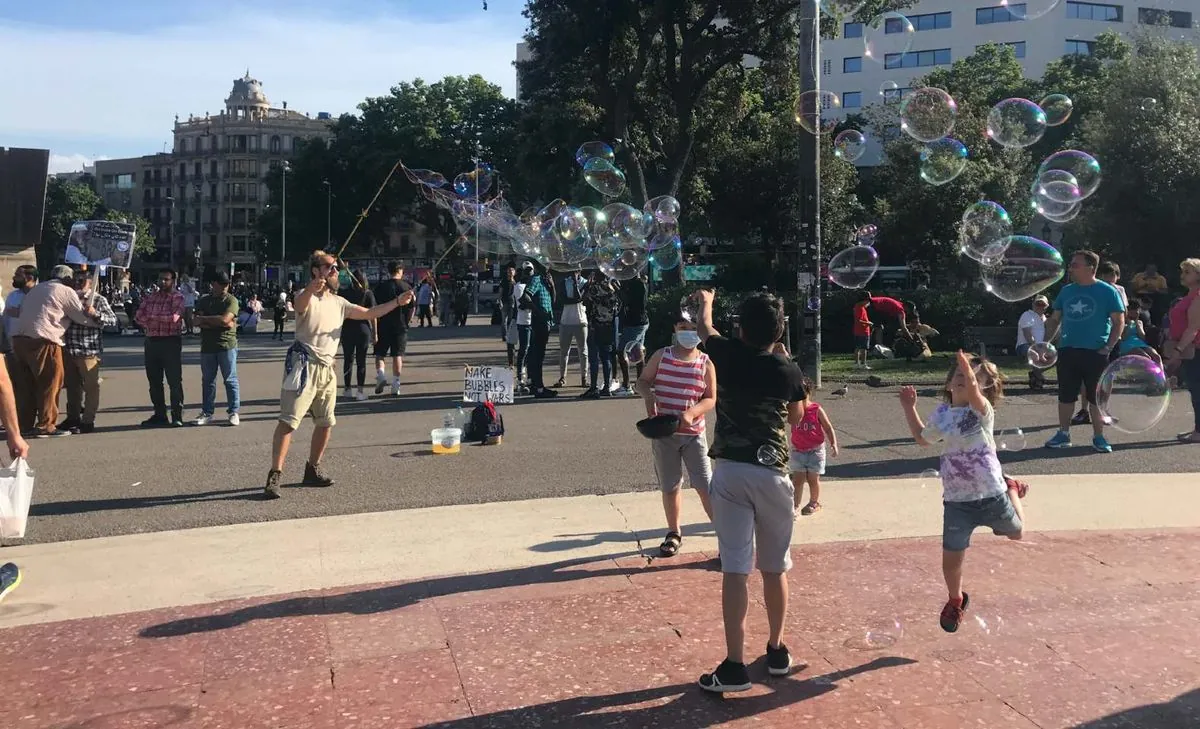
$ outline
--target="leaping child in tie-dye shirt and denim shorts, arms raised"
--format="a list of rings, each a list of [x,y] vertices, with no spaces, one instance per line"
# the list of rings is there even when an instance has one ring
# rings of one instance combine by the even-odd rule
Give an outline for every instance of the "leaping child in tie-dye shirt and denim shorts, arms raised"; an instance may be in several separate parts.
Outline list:
[[[1020,484],[1004,478],[992,440],[996,412],[1003,396],[1003,380],[992,362],[958,355],[946,376],[944,400],[929,423],[917,414],[917,391],[900,390],[900,403],[912,436],[922,446],[943,442],[942,450],[942,574],[949,600],[942,608],[942,629],[959,629],[967,608],[962,591],[962,562],[971,532],[986,526],[1010,540],[1022,536],[1025,514]]]

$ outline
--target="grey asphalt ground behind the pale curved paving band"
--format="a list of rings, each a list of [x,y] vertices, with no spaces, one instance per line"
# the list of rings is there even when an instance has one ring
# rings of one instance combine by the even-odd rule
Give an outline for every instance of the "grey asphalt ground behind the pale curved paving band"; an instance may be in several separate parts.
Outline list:
[[[655,488],[649,448],[632,423],[642,414],[636,398],[577,402],[577,387],[554,400],[518,400],[502,409],[508,434],[497,447],[466,447],[457,456],[433,456],[430,430],[462,392],[463,365],[503,363],[496,327],[474,318],[466,329],[414,330],[401,397],[340,402],[338,423],[325,465],[337,478],[329,489],[294,486],[277,501],[259,493],[270,460],[286,343],[269,335],[245,337],[239,361],[242,424],[230,428],[218,415],[203,428],[143,430],[149,411],[140,338],[109,338],[103,366],[102,411],[90,435],[37,440],[32,464],[37,486],[25,542],[52,542],[422,506],[605,494]],[[553,338],[552,338],[553,339]],[[198,344],[185,348],[186,417],[199,400]],[[552,353],[551,359],[554,360]],[[547,381],[557,379],[547,367]],[[368,376],[372,376],[368,372]],[[577,369],[568,374],[578,381]],[[932,391],[922,410],[934,406]],[[1013,391],[997,414],[997,428],[1020,427],[1030,447],[1002,454],[1014,475],[1138,474],[1200,471],[1200,450],[1177,445],[1188,429],[1187,393],[1176,393],[1168,417],[1140,435],[1112,433],[1116,452],[1092,453],[1078,445],[1048,451],[1054,398]],[[218,384],[218,412],[223,408]],[[842,445],[827,478],[914,477],[936,468],[936,453],[907,438],[894,388],[852,387],[845,399],[824,394]],[[300,480],[310,426],[302,426],[284,471]],[[1087,441],[1076,429],[1076,442]],[[1196,476],[1187,476],[1196,478]],[[1136,498],[1136,483],[1130,496]],[[428,535],[448,540],[461,534]],[[286,544],[280,544],[287,549]]]

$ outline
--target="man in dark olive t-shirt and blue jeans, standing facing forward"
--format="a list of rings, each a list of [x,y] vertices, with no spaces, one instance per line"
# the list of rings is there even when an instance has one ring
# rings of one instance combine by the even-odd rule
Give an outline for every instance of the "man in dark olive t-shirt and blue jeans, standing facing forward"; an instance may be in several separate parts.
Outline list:
[[[240,420],[238,387],[238,297],[229,293],[229,275],[217,271],[209,282],[212,290],[196,302],[196,325],[200,327],[200,416],[192,421],[205,426],[217,404],[217,369],[226,384],[229,424]]]

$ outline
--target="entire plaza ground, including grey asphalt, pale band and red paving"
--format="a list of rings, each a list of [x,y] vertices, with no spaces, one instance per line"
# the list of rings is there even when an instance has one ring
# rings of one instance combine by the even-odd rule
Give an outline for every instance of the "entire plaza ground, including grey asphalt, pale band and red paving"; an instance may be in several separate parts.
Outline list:
[[[0,727],[1200,725],[1183,398],[1099,456],[1040,448],[1052,398],[1014,392],[997,427],[1030,434],[1001,454],[1032,487],[1027,541],[977,532],[953,635],[940,490],[918,478],[936,459],[904,436],[894,388],[818,398],[842,457],[793,540],[802,664],[767,679],[756,663],[755,689],[722,699],[695,687],[724,657],[715,536],[689,493],[680,554],[655,556],[641,403],[520,402],[502,446],[434,457],[462,366],[503,349],[482,324],[412,339],[400,398],[338,404],[337,486],[272,502],[286,345],[245,341],[240,427],[146,432],[140,342],[110,339],[97,432],[32,444],[29,538],[0,548],[25,576],[0,604]],[[194,344],[185,363],[194,402]],[[748,659],[767,634],[757,578],[751,597]]]

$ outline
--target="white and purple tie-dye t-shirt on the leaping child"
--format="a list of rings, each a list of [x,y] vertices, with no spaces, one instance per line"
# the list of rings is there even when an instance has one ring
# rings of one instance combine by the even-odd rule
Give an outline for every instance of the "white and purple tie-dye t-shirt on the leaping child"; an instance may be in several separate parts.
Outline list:
[[[988,405],[983,412],[970,406],[954,408],[942,403],[929,416],[922,438],[943,441],[942,500],[978,501],[998,496],[1006,490],[1004,475],[996,457],[991,432],[996,412]]]

